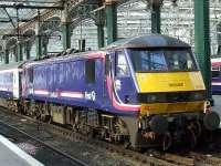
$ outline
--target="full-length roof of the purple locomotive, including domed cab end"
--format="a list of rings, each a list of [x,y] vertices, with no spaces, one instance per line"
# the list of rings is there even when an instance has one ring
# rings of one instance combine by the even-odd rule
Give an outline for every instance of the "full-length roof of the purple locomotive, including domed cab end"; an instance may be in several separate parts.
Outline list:
[[[74,58],[77,59],[87,59],[92,58],[93,54],[105,54],[105,50],[120,49],[120,48],[190,48],[189,44],[168,35],[162,34],[151,34],[151,35],[140,35],[124,40],[118,40],[103,51],[91,51],[91,52],[80,52],[74,54],[66,54],[64,56],[57,56],[52,59],[45,59],[40,61],[32,61],[24,64],[24,66],[44,64],[44,63],[54,63],[60,61],[70,61]]]

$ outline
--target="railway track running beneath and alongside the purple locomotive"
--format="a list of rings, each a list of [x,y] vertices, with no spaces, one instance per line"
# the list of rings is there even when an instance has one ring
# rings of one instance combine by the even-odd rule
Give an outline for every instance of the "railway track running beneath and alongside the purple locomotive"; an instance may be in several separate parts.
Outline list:
[[[87,144],[91,144],[93,146],[96,146],[96,147],[98,146],[101,148],[105,148],[109,152],[117,153],[125,157],[129,157],[130,159],[134,159],[141,165],[150,165],[150,166],[177,166],[177,165],[183,165],[183,166],[214,165],[214,166],[219,166],[219,165],[221,165],[221,158],[213,157],[213,156],[207,156],[207,155],[194,153],[194,152],[190,152],[185,155],[177,155],[177,154],[169,154],[169,153],[141,154],[141,153],[134,152],[130,149],[125,149],[123,146],[119,146],[119,145],[94,139],[92,137],[82,135],[80,133],[75,133],[72,129],[67,129],[67,128],[64,128],[61,126],[43,123],[43,122],[33,120],[25,115],[21,115],[21,114],[8,112],[8,111],[4,111],[4,112],[36,123],[38,129],[45,129],[50,133],[61,135],[62,137],[65,137],[71,141],[82,141]],[[0,125],[1,125],[1,122],[0,122]],[[72,157],[72,156],[69,156],[69,157]]]

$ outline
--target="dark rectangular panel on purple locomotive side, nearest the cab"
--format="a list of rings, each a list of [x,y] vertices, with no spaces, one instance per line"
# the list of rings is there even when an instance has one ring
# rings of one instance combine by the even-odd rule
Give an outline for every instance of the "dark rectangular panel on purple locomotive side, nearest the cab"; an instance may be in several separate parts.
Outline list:
[[[86,83],[95,83],[95,60],[87,60],[85,65]]]

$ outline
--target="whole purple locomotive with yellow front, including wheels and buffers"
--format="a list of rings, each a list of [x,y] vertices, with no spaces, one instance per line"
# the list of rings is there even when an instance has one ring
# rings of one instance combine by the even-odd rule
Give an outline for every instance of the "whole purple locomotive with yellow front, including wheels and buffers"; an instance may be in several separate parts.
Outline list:
[[[154,34],[103,51],[27,62],[20,111],[126,146],[197,144],[220,117],[189,44]]]

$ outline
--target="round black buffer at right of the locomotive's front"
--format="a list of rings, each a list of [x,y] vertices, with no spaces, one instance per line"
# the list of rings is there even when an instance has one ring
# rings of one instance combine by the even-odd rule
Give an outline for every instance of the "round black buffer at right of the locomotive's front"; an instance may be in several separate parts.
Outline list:
[[[204,115],[203,125],[209,131],[214,131],[220,125],[220,116],[215,112],[211,112]]]

